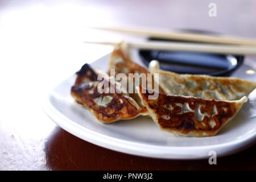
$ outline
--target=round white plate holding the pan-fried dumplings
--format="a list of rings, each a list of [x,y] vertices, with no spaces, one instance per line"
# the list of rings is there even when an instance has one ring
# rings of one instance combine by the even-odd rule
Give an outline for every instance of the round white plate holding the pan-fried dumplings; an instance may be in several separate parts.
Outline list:
[[[93,68],[106,71],[108,55],[92,63]],[[256,80],[255,74],[247,75],[248,69],[256,70],[251,60],[246,60],[234,76]],[[249,147],[256,139],[255,91],[249,102],[243,105],[236,117],[214,137],[175,137],[162,131],[150,117],[138,117],[112,124],[97,122],[84,107],[70,96],[75,75],[61,82],[49,93],[44,110],[64,130],[98,146],[140,156],[164,159],[208,158],[210,151],[224,156]],[[253,98],[254,97],[254,98]]]

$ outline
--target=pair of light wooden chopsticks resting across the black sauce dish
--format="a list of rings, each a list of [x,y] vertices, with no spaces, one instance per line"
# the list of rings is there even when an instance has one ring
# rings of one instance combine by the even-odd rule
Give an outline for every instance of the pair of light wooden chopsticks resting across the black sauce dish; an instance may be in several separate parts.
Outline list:
[[[235,38],[227,36],[213,36],[203,34],[191,34],[183,32],[173,32],[164,30],[148,30],[133,28],[114,27],[92,27],[98,30],[114,31],[131,35],[147,36],[160,39],[185,40],[188,42],[200,43],[180,43],[180,42],[126,42],[128,47],[139,49],[154,49],[158,51],[187,51],[204,53],[221,53],[233,55],[256,55],[256,40]],[[96,44],[116,45],[117,42],[85,42]]]

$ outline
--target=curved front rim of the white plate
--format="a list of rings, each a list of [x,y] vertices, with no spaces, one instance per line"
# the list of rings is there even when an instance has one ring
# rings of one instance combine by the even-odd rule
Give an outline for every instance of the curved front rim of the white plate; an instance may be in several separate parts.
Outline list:
[[[108,148],[110,150],[123,152],[125,154],[144,156],[149,158],[159,158],[159,159],[206,159],[209,158],[209,151],[216,151],[217,156],[225,156],[235,154],[239,151],[244,150],[245,148],[251,146],[255,142],[256,133],[251,133],[246,136],[246,138],[242,138],[237,142],[237,140],[233,140],[231,142],[221,143],[221,144],[213,144],[207,146],[193,146],[193,147],[173,147],[173,146],[154,146],[151,144],[141,144],[126,141],[123,139],[117,139],[114,137],[110,137],[104,134],[97,133],[95,131],[86,129],[81,125],[73,122],[71,119],[66,118],[65,115],[61,114],[57,111],[49,100],[44,102],[43,109],[45,113],[48,115],[56,125],[60,126],[62,129],[75,135],[76,137],[85,140],[86,142],[90,142],[96,144],[97,146]],[[82,128],[80,128],[82,127]],[[83,132],[81,132],[83,131]],[[85,132],[86,131],[86,132]],[[102,138],[104,136],[104,138]],[[128,144],[128,146],[126,145]],[[136,146],[135,148],[131,148]],[[146,148],[157,149],[158,153],[155,151],[146,150]],[[174,151],[172,154],[167,154],[163,152],[163,149],[168,149],[167,152]],[[177,151],[185,150],[185,154],[177,154]],[[198,152],[200,150],[200,152]],[[162,151],[162,152],[161,152]],[[197,155],[195,155],[195,151],[197,151]],[[203,151],[203,152],[202,152]],[[203,153],[207,152],[207,155]],[[200,153],[200,154],[199,154]],[[175,155],[176,154],[176,155]]]

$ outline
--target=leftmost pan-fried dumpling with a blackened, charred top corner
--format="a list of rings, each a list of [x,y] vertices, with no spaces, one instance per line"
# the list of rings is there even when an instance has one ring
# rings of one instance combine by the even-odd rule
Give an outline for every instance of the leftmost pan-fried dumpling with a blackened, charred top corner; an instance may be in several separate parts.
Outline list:
[[[112,123],[119,119],[131,119],[138,115],[147,115],[146,107],[139,107],[137,102],[121,90],[118,93],[98,93],[98,75],[109,82],[109,77],[100,71],[94,71],[89,64],[84,64],[76,72],[75,85],[71,88],[71,96],[76,102],[85,106],[96,118],[103,123]],[[115,82],[115,84],[119,84]]]

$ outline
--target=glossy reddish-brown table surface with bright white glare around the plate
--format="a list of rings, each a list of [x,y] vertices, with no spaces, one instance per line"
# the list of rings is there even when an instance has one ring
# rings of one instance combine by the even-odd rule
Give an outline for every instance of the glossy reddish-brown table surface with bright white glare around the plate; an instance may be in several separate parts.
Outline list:
[[[256,169],[256,145],[217,158],[217,165],[209,165],[208,159],[143,158],[85,142],[56,126],[42,109],[48,90],[112,49],[82,40],[122,38],[87,30],[91,24],[200,29],[256,38],[255,1],[214,2],[215,18],[208,16],[210,1],[203,0],[1,1],[0,170]]]

